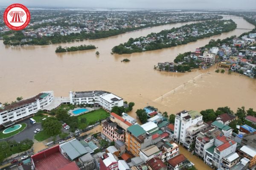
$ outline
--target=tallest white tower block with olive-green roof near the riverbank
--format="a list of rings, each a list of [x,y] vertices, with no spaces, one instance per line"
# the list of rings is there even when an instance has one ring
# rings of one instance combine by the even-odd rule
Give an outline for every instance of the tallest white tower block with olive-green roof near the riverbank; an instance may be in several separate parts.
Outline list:
[[[203,120],[203,116],[197,111],[181,111],[175,117],[174,139],[177,142],[186,142],[186,129]]]

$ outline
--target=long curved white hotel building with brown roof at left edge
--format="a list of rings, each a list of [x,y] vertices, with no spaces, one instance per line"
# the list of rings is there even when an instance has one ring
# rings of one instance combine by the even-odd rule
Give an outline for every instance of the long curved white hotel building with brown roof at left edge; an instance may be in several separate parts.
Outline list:
[[[0,125],[9,126],[14,122],[35,114],[44,109],[54,98],[53,91],[43,91],[29,99],[21,100],[7,106],[0,106]]]

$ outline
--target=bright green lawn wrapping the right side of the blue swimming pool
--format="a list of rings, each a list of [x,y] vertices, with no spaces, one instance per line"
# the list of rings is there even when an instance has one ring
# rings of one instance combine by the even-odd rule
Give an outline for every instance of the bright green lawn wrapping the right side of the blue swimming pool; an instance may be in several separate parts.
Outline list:
[[[88,113],[84,113],[83,115],[79,115],[78,123],[80,123],[82,117],[86,118],[87,124],[89,124],[90,122],[96,122],[100,119],[106,119],[109,116],[110,114],[107,111],[104,111],[103,109],[98,109],[96,111],[90,111]]]

